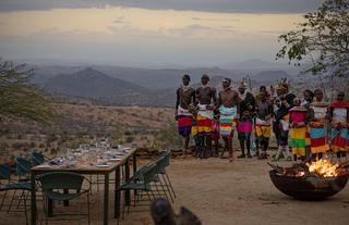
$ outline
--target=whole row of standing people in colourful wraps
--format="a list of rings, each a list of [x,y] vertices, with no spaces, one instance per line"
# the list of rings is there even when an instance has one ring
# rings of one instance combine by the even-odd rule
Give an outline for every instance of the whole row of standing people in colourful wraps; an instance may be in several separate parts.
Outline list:
[[[183,155],[192,136],[195,157],[224,158],[227,151],[232,161],[232,138],[237,132],[241,149],[238,158],[252,158],[251,146],[254,145],[255,155],[267,159],[272,130],[278,145],[278,151],[273,155],[276,161],[282,157],[290,161],[322,158],[328,150],[335,151],[340,159],[349,151],[349,103],[342,91],[338,91],[336,101],[329,104],[323,101],[321,89],[304,90],[301,100],[289,92],[286,79],[279,82],[276,91],[273,86],[269,91],[261,86],[255,97],[246,91],[243,82],[234,90],[231,80],[225,78],[218,95],[209,86],[208,75],[204,74],[201,83],[202,86],[194,89],[185,74],[177,90],[174,114],[179,134],[184,139]],[[255,139],[251,139],[253,135]],[[225,146],[219,152],[220,138]]]

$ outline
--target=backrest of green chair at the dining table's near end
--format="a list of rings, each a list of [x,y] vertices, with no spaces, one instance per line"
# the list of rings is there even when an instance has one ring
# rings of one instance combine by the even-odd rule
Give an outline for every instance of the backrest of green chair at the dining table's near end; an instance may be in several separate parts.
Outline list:
[[[71,172],[49,172],[37,177],[44,191],[52,189],[80,190],[85,179],[83,175]]]

